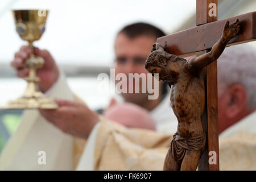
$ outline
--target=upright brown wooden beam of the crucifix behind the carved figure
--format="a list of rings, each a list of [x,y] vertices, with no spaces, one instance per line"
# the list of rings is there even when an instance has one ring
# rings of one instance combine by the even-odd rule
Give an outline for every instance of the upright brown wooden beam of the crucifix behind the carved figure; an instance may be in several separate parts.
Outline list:
[[[217,21],[217,3],[217,0],[196,1],[197,26]],[[201,44],[204,43],[202,42]],[[196,56],[200,56],[206,52],[208,50],[196,52]],[[201,156],[199,170],[217,171],[219,170],[217,60],[209,64],[204,71],[206,72],[207,105],[205,108],[207,111],[205,112],[205,118],[203,118],[203,126],[205,133],[207,133],[207,146],[205,147],[204,154]],[[216,154],[216,164],[209,163],[209,154]]]

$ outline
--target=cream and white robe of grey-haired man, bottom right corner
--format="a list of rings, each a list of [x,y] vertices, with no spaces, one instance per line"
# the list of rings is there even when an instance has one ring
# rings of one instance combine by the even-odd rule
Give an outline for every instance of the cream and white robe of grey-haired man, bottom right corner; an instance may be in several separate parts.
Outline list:
[[[256,111],[220,134],[220,169],[256,170]]]

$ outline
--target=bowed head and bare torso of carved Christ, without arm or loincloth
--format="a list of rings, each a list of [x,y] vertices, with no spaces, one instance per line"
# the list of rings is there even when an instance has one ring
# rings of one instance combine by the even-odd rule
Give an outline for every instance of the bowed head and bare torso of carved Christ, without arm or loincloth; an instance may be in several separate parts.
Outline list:
[[[205,107],[203,72],[193,72],[187,60],[164,51],[153,51],[145,68],[158,73],[159,80],[171,85],[171,106],[177,117],[177,134],[191,138],[203,133],[201,117]]]

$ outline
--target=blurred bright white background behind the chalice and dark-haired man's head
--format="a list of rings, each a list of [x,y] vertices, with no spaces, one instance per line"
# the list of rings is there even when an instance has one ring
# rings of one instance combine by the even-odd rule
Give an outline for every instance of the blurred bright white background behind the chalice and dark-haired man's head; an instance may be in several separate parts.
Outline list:
[[[156,7],[157,6],[157,7]],[[26,44],[15,32],[11,9],[48,9],[46,32],[35,46],[57,63],[109,65],[114,38],[133,22],[152,23],[170,33],[196,11],[195,0],[1,0],[0,61],[9,62]]]

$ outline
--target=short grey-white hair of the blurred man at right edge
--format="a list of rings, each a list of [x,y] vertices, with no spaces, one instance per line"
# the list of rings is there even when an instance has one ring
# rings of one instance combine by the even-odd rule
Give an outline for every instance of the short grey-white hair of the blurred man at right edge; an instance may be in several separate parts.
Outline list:
[[[246,104],[256,109],[256,50],[246,44],[228,47],[218,59],[218,86],[243,86]]]

